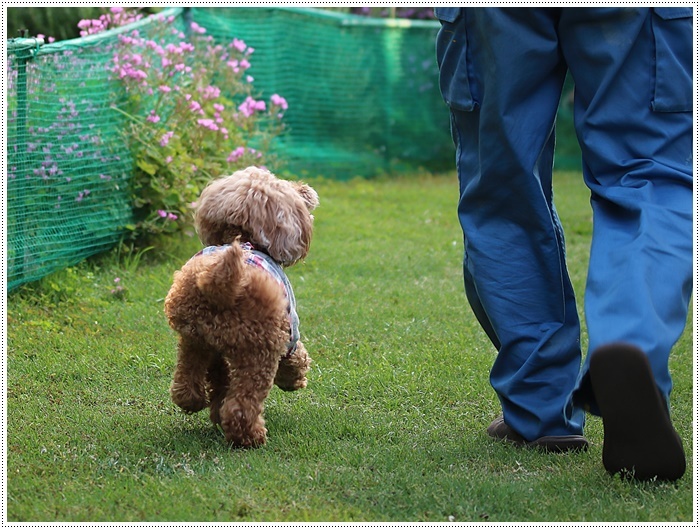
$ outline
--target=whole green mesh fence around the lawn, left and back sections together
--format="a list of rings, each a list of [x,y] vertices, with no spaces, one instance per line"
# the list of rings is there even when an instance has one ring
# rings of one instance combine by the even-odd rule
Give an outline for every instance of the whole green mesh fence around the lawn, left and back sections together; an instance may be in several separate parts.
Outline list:
[[[256,91],[289,103],[276,154],[290,172],[345,179],[454,167],[437,21],[284,7],[166,11],[180,28],[194,21],[217,40],[255,48]],[[132,219],[133,161],[112,108],[124,94],[109,72],[118,34],[131,29],[45,46],[8,41],[9,290],[110,248]],[[577,167],[564,110],[558,165]]]

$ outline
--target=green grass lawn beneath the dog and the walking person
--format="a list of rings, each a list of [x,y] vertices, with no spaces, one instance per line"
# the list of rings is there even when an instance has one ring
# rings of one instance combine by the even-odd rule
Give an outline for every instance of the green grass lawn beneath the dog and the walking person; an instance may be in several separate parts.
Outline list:
[[[576,173],[555,182],[582,299],[588,195]],[[672,356],[689,463],[677,483],[608,476],[596,418],[587,453],[496,443],[485,432],[500,411],[495,352],[463,293],[454,177],[310,183],[315,239],[289,277],[314,364],[305,390],[273,389],[263,448],[230,450],[208,414],[168,396],[176,340],[163,298],[194,238],[9,296],[9,521],[693,520],[690,325]]]

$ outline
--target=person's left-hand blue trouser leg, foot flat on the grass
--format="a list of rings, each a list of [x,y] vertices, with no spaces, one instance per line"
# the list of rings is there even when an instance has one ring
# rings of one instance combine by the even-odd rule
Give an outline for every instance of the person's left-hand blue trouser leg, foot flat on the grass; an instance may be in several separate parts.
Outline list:
[[[583,412],[567,409],[580,329],[552,197],[554,121],[566,73],[559,10],[437,14],[466,292],[498,349],[491,384],[506,424],[525,440],[580,435]]]

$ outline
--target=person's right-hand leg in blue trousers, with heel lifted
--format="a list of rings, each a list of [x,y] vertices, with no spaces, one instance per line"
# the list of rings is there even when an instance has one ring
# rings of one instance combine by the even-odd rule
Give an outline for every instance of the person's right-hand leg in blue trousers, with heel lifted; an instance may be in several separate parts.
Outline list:
[[[585,299],[591,354],[574,400],[602,414],[608,452],[615,448],[608,450],[608,445],[621,442],[620,435],[609,442],[613,416],[629,418],[631,409],[639,407],[623,392],[660,394],[662,404],[653,408],[667,408],[672,387],[669,354],[688,315],[692,19],[684,15],[692,11],[587,8],[565,9],[561,19],[562,50],[576,85],[574,119],[593,207]],[[649,380],[656,385],[652,391],[645,389],[643,377],[629,375],[646,369],[645,360],[630,350],[648,357],[653,375]],[[605,376],[605,366],[618,373]],[[630,410],[620,404],[624,401]],[[638,415],[637,429],[648,429],[654,421],[658,427],[652,429],[672,430],[667,417],[649,410]],[[628,421],[627,429],[634,428]],[[665,449],[658,443],[652,446],[640,432],[636,438],[647,449],[616,450],[637,450],[643,454],[638,458],[641,465],[656,453],[677,452],[674,433],[668,432]],[[606,463],[609,470],[614,466]]]

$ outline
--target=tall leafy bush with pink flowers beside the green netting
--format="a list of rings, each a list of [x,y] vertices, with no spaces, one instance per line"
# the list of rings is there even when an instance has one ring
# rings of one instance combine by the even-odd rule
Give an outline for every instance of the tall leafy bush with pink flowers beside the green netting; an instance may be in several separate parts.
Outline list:
[[[134,238],[185,227],[190,204],[211,178],[269,164],[288,109],[279,94],[265,100],[254,92],[255,50],[245,41],[219,43],[196,22],[186,36],[171,17],[151,16],[147,30],[119,37],[110,63],[128,96],[115,110],[127,120],[137,167]],[[112,8],[80,27],[102,31],[138,18],[133,9]]]

